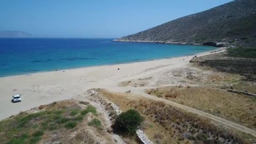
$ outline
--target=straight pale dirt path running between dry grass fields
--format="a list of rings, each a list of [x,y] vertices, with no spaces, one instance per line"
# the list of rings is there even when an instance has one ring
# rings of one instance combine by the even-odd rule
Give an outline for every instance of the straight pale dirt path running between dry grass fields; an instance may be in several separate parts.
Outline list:
[[[200,115],[202,117],[206,117],[206,118],[208,118],[210,120],[213,120],[213,121],[215,121],[215,122],[217,122],[219,124],[226,125],[229,128],[236,129],[236,130],[242,131],[244,133],[249,133],[252,136],[256,137],[256,131],[255,130],[253,130],[251,128],[247,128],[247,127],[245,127],[243,125],[234,123],[232,121],[226,120],[224,118],[217,117],[217,116],[211,115],[211,114],[209,114],[207,112],[203,112],[203,111],[191,108],[191,107],[187,107],[187,106],[184,106],[182,104],[178,104],[178,103],[173,102],[173,101],[169,101],[169,100],[166,100],[166,99],[161,99],[161,98],[158,98],[158,97],[155,97],[155,96],[151,96],[151,95],[149,95],[147,93],[139,92],[138,94],[140,94],[141,96],[147,97],[149,99],[153,99],[155,101],[163,101],[166,104],[170,104],[170,105],[172,105],[174,107],[178,107],[178,108],[184,109],[184,110],[186,110],[188,112],[192,112],[192,113],[195,113],[195,114]]]

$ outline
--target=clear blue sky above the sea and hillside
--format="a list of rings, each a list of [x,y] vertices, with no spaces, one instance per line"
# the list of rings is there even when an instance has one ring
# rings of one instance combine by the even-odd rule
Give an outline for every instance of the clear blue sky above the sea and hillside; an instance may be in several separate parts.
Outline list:
[[[122,37],[232,0],[0,0],[0,30]]]

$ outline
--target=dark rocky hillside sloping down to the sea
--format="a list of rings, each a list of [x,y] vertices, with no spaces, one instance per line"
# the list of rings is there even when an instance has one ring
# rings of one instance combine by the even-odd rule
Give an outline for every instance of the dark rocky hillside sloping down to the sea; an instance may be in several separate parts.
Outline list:
[[[256,1],[234,0],[114,41],[256,46]]]

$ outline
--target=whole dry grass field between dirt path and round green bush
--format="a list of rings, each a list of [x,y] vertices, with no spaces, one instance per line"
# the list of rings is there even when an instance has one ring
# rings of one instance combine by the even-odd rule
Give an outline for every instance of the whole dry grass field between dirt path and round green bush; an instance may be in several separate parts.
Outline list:
[[[111,99],[123,111],[130,108],[138,110],[146,120],[142,129],[154,143],[207,142],[204,139],[205,136],[215,143],[218,141],[242,141],[239,135],[225,131],[209,120],[181,111],[163,102],[138,99],[138,97],[127,93],[110,93],[105,90],[99,90],[99,92]]]

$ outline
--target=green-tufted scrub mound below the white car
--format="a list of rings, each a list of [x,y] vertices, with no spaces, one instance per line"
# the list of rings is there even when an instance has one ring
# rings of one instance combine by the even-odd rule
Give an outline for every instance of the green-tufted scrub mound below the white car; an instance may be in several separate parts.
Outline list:
[[[34,144],[52,131],[69,131],[82,123],[89,112],[97,114],[96,108],[89,103],[75,101],[53,102],[41,105],[28,112],[20,112],[0,121],[1,144]],[[93,126],[101,127],[98,119]]]

